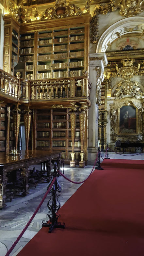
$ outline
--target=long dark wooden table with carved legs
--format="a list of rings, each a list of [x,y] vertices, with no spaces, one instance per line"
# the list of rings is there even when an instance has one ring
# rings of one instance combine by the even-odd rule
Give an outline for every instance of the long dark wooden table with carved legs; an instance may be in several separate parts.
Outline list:
[[[60,151],[42,151],[42,150],[21,150],[18,151],[21,155],[12,156],[6,155],[5,152],[0,152],[0,209],[6,206],[5,189],[8,182],[7,173],[13,170],[21,169],[21,174],[24,178],[24,193],[28,194],[28,176],[29,166],[45,162],[47,167],[47,177],[49,181],[49,174],[52,167],[52,159],[57,159],[59,164],[61,161]]]

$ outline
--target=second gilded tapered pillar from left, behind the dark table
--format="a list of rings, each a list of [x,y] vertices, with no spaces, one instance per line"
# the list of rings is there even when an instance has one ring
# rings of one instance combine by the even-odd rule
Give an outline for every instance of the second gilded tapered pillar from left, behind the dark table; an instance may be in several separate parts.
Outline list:
[[[29,141],[29,132],[30,132],[30,122],[31,122],[31,110],[25,109],[25,114],[24,114],[24,129],[25,129],[25,147],[26,150],[28,149],[28,141]]]

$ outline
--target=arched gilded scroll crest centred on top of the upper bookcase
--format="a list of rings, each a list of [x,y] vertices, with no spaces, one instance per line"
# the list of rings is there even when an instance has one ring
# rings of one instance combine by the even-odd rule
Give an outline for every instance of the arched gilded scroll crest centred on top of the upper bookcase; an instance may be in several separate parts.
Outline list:
[[[81,9],[74,4],[70,4],[66,0],[56,0],[53,8],[47,8],[42,14],[40,20],[51,20],[65,18],[69,16],[79,16],[83,12]]]

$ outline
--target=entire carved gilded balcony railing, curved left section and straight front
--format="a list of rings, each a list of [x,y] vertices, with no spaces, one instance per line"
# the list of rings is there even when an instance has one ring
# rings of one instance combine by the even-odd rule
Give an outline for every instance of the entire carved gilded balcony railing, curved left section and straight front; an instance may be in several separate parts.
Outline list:
[[[21,101],[51,99],[89,99],[91,83],[88,76],[27,80],[16,78],[0,69],[0,92]]]

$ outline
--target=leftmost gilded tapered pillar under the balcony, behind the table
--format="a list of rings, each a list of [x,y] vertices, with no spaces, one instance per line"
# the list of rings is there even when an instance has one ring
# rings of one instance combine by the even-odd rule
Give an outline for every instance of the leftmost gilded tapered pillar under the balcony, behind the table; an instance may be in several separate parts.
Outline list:
[[[19,128],[20,128],[20,118],[21,114],[19,113],[21,109],[19,107],[15,107],[13,109],[13,128],[14,128],[14,137],[15,137],[15,149],[17,149],[18,145],[18,137],[19,137]]]

